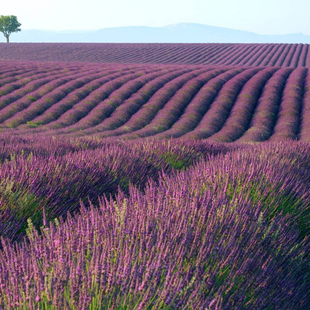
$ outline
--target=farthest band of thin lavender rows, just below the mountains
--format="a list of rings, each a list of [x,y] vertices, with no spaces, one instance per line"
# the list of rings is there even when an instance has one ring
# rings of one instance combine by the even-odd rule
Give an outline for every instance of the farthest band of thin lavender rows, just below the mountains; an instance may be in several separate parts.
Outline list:
[[[310,48],[253,43],[0,43],[0,60],[310,68]]]

